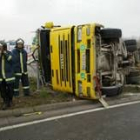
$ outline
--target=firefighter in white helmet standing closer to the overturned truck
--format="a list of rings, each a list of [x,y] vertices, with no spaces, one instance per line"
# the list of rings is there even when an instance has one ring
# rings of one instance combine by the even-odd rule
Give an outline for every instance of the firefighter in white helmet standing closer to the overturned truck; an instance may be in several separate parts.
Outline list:
[[[24,40],[17,39],[16,47],[12,51],[14,56],[14,70],[15,70],[15,87],[14,96],[19,96],[19,83],[22,82],[22,87],[25,96],[30,95],[29,79],[27,73],[27,52],[24,49]]]

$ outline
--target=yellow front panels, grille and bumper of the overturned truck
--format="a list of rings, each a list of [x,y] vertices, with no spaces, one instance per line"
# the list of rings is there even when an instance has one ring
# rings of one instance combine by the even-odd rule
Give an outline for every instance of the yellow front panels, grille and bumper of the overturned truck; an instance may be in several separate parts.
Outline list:
[[[75,93],[76,96],[97,99],[96,37],[98,24],[53,28],[50,31],[52,87]]]

